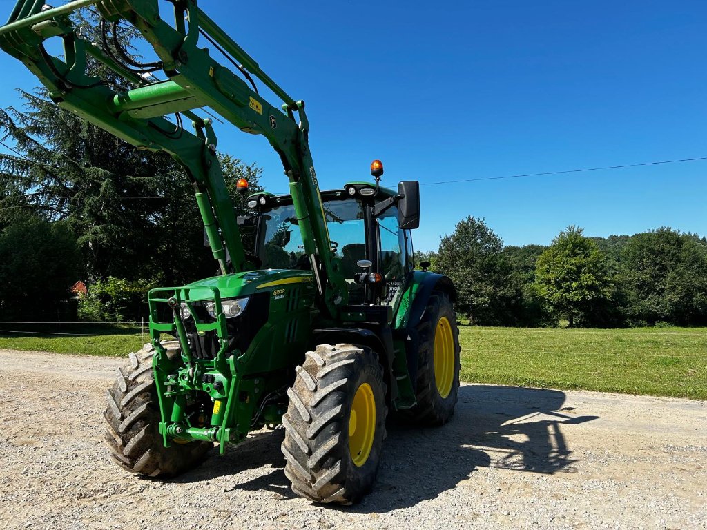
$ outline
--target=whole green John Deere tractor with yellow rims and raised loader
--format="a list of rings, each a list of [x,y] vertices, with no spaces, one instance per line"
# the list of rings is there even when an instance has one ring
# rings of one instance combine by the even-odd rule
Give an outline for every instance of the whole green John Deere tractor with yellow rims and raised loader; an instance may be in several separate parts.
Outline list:
[[[82,8],[100,16],[93,32],[77,30]],[[122,47],[124,26],[136,28],[156,61]],[[47,48],[52,38],[63,51]],[[0,47],[60,107],[182,164],[220,269],[148,293],[151,343],[130,353],[107,392],[106,440],[119,466],[175,476],[214,445],[223,453],[249,432],[283,425],[293,491],[349,504],[373,485],[389,412],[420,425],[450,419],[459,386],[456,292],[446,276],[414,270],[417,182],[382,187],[376,160],[373,182],[320,192],[304,102],[196,0],[20,0],[0,28]],[[259,95],[254,78],[281,106]],[[236,216],[204,107],[269,141],[288,195],[251,194],[250,214]],[[243,245],[245,232],[255,245]]]

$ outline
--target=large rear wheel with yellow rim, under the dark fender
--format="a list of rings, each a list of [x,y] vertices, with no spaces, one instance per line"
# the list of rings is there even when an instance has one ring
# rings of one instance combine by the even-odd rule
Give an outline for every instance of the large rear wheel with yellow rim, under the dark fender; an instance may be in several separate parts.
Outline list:
[[[418,425],[443,425],[457,404],[461,351],[457,314],[445,293],[432,293],[416,329],[417,405],[401,416]]]

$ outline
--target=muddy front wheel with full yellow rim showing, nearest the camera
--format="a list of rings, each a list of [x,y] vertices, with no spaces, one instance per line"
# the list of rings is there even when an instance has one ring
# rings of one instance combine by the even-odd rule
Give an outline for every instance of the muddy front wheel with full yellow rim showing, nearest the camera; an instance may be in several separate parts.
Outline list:
[[[292,490],[349,505],[373,486],[385,438],[385,383],[378,355],[351,344],[317,346],[287,391],[282,452]]]

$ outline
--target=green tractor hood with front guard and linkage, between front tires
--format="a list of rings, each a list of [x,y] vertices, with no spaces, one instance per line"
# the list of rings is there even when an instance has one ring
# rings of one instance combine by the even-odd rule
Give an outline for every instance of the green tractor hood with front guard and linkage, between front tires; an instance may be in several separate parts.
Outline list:
[[[250,344],[241,351],[226,351],[229,341],[226,316],[220,310],[223,300],[232,298],[267,297],[267,319],[253,334]],[[249,430],[259,428],[253,423],[256,406],[262,396],[284,389],[291,384],[294,368],[302,363],[315,319],[315,286],[312,273],[306,271],[268,270],[235,273],[206,278],[184,287],[158,288],[148,295],[150,329],[157,354],[153,367],[160,396],[163,423],[160,432],[165,444],[171,437],[183,440],[211,440],[225,444],[243,440]],[[197,333],[216,332],[219,349],[214,359],[197,359],[182,319],[173,313],[172,319],[160,319],[160,305],[173,300],[181,303],[214,302],[216,318],[213,322],[195,322]],[[254,298],[252,300],[255,300]],[[249,302],[251,304],[252,302]],[[246,307],[245,312],[252,310]],[[239,318],[239,317],[236,317]],[[160,343],[162,333],[179,338],[181,363],[168,358]],[[267,377],[263,377],[267,374]],[[206,376],[206,378],[204,378]],[[185,411],[189,397],[206,393],[214,403],[200,426],[191,425]],[[269,423],[279,423],[284,407],[274,404],[268,411]],[[265,414],[265,409],[262,414]],[[208,413],[208,414],[207,414]],[[266,418],[262,418],[266,419]],[[203,425],[208,423],[208,425]]]

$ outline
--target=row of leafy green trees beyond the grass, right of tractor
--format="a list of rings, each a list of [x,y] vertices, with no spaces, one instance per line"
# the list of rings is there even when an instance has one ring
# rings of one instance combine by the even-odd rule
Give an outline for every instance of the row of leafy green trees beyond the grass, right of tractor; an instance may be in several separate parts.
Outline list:
[[[468,217],[423,260],[452,278],[472,324],[707,325],[707,238],[668,227],[604,238],[569,226],[549,246],[506,247]]]

